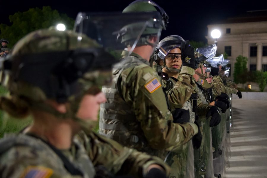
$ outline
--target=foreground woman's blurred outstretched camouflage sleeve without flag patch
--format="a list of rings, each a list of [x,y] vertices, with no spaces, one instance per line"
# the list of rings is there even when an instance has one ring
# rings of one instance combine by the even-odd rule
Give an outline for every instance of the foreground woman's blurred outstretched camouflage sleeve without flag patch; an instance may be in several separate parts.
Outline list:
[[[143,177],[150,165],[158,164],[165,169],[166,176],[169,175],[169,166],[158,157],[123,147],[114,140],[96,133],[85,135],[80,132],[79,136],[93,164],[103,165],[113,174]]]

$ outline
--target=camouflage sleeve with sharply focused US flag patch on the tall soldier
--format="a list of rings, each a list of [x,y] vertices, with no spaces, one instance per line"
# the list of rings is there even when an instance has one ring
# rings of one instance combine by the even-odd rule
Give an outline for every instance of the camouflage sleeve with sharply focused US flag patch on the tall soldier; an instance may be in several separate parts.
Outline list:
[[[126,89],[125,85],[121,84],[120,88],[125,101],[131,101],[144,136],[154,149],[179,149],[198,132],[196,125],[193,123],[174,124],[156,72],[149,66],[135,71],[136,73],[130,79],[129,75],[122,79],[129,81],[126,82],[129,87]],[[121,75],[123,77],[123,74]],[[125,90],[130,91],[125,92]]]

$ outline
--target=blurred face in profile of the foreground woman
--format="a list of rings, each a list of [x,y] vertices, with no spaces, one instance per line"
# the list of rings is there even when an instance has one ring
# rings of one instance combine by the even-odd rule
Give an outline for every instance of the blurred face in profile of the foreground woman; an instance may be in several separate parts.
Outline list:
[[[107,99],[102,92],[96,95],[86,94],[80,102],[77,117],[84,120],[97,120],[100,104],[106,101]]]

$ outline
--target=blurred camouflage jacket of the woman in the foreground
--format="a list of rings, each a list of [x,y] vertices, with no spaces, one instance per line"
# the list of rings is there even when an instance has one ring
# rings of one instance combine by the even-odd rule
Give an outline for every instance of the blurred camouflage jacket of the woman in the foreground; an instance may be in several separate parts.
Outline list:
[[[44,141],[25,135],[7,135],[0,140],[0,177],[81,178],[94,177],[95,167],[103,165],[107,172],[143,177],[151,164],[158,164],[169,174],[169,167],[157,157],[122,147],[98,134],[77,134],[69,150],[60,152],[82,175],[72,175],[59,157]]]

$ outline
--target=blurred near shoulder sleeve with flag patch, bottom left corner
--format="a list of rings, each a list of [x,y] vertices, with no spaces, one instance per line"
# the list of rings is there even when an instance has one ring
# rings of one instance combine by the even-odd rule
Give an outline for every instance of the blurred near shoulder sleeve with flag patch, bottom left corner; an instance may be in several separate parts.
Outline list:
[[[31,147],[16,146],[0,155],[0,177],[27,178],[43,175],[46,178],[82,178],[63,172],[59,168],[61,165],[63,163],[55,161],[49,153],[39,153]]]

